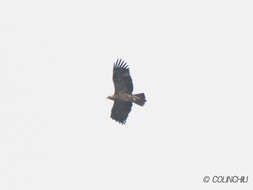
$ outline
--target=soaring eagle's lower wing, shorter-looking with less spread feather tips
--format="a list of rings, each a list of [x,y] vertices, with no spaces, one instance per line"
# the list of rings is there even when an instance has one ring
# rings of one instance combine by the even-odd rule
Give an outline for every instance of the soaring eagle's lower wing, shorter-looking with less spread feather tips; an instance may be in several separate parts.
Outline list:
[[[121,124],[126,123],[127,116],[131,111],[132,102],[125,102],[120,100],[114,100],[112,107],[111,118]]]

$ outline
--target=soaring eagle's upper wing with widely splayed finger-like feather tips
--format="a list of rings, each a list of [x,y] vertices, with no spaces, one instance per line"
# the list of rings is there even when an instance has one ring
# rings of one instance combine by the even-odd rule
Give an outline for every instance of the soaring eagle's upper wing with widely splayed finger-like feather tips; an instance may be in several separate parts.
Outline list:
[[[117,59],[113,66],[113,83],[115,93],[128,93],[133,91],[133,83],[127,64],[121,59]]]

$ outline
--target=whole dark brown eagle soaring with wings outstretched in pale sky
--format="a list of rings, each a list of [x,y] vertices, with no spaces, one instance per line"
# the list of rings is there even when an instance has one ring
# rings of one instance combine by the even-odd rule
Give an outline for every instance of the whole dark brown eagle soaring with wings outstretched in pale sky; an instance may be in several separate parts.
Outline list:
[[[117,59],[113,64],[114,94],[107,98],[114,101],[111,118],[121,124],[125,124],[132,104],[143,106],[146,102],[145,94],[132,94],[133,83],[129,67],[122,59]]]

